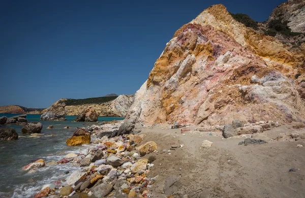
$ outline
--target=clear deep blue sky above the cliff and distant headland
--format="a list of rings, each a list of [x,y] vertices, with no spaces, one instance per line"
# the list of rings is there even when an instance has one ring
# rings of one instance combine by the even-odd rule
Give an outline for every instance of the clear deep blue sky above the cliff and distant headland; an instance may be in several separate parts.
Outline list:
[[[264,21],[285,1],[0,1],[0,106],[133,94],[182,25],[213,4]]]

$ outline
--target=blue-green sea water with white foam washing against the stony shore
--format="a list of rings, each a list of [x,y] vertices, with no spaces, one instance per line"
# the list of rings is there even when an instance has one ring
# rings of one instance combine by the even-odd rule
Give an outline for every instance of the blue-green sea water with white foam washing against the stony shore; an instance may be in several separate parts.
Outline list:
[[[11,117],[17,114],[0,114]],[[27,115],[29,122],[39,121],[40,115]],[[44,184],[53,183],[59,179],[66,179],[79,167],[69,164],[46,166],[37,169],[36,173],[28,174],[22,170],[32,160],[42,158],[45,162],[62,159],[67,153],[85,152],[89,145],[67,146],[66,139],[70,138],[76,127],[86,127],[96,122],[71,122],[75,116],[66,116],[66,121],[41,121],[43,129],[40,138],[27,138],[21,135],[21,125],[5,125],[3,127],[15,128],[19,134],[18,140],[0,142],[0,197],[33,197],[41,190]],[[99,121],[123,120],[117,117],[99,117]],[[54,128],[47,129],[49,125]],[[71,128],[65,129],[65,126]],[[53,135],[53,136],[50,136]],[[66,171],[70,171],[68,175]],[[64,183],[63,183],[64,184]]]

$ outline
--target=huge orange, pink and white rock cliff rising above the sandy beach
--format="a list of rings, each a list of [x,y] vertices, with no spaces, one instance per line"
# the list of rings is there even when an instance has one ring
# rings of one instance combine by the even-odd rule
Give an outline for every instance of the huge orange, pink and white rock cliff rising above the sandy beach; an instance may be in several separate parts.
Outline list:
[[[291,51],[234,20],[223,5],[211,6],[175,32],[136,92],[127,121],[305,121],[294,80],[304,71],[304,47]]]

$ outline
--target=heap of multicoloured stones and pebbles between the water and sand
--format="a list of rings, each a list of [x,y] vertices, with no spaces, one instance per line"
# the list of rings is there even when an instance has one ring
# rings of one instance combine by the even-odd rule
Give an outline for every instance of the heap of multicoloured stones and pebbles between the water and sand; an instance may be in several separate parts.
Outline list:
[[[157,144],[143,142],[144,135],[123,135],[108,138],[112,130],[118,129],[123,122],[113,122],[103,125],[92,125],[84,129],[77,129],[73,137],[90,134],[92,148],[86,153],[69,153],[58,161],[45,163],[39,159],[25,166],[23,169],[33,172],[44,166],[70,163],[82,167],[73,172],[66,180],[66,186],[47,184],[34,197],[150,197],[154,193],[149,191],[158,177],[148,176],[154,167],[156,156],[145,158],[146,154],[158,153]],[[111,133],[109,133],[109,131]],[[73,138],[72,137],[72,138]],[[87,143],[87,142],[84,142]],[[67,140],[68,144],[68,140]],[[139,146],[140,145],[140,146]],[[65,182],[65,181],[62,181]],[[57,182],[61,183],[61,182]],[[56,182],[55,182],[56,184]]]

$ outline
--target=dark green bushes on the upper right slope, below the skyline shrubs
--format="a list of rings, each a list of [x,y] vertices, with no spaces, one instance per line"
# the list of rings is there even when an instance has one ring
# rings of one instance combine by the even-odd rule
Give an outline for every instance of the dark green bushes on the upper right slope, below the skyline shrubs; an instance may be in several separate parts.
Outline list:
[[[272,19],[268,23],[268,30],[265,31],[265,35],[269,36],[276,36],[278,33],[282,34],[286,37],[294,37],[297,35],[301,35],[300,32],[292,32],[291,29],[288,27],[289,21],[282,22],[281,19]]]

